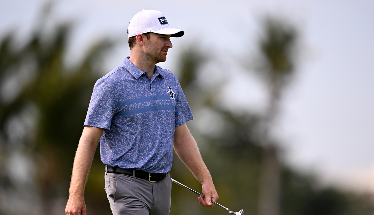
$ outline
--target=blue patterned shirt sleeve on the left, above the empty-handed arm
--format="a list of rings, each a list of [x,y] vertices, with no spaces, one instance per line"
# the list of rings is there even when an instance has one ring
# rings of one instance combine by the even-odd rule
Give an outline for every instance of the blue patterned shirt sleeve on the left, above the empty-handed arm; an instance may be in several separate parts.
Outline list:
[[[107,79],[99,79],[93,87],[84,125],[110,130],[111,120],[116,109],[114,96],[113,83]]]

